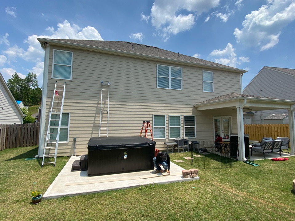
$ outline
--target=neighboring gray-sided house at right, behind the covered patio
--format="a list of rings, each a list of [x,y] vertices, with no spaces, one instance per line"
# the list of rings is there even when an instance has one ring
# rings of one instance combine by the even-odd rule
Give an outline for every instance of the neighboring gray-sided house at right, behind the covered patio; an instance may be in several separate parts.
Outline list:
[[[295,69],[263,67],[243,90],[244,94],[295,100]],[[252,124],[268,124],[270,114],[288,114],[287,110],[255,111]]]

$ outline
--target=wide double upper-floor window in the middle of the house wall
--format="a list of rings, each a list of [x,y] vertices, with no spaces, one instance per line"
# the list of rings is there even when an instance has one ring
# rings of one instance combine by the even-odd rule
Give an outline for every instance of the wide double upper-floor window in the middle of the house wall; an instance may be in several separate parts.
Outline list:
[[[157,87],[182,90],[182,68],[158,64]]]

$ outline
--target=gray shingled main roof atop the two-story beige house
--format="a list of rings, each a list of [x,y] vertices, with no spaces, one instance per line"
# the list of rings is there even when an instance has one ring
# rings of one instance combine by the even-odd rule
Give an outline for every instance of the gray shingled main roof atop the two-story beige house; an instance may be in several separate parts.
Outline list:
[[[44,39],[44,40],[47,40],[47,39]],[[142,45],[142,44],[132,43],[128,41],[95,41],[95,40],[74,40],[74,39],[48,39],[48,40],[56,41],[56,42],[58,41],[68,42],[73,44],[87,45],[87,46],[93,46],[93,47],[99,47],[99,48],[108,48],[108,49],[113,49],[113,50],[118,50],[123,52],[132,52],[132,53],[143,54],[143,55],[150,55],[150,56],[156,56],[156,57],[162,57],[162,58],[168,58],[168,59],[194,62],[198,64],[213,65],[213,66],[222,67],[222,68],[231,68],[241,73],[247,72],[242,69],[233,68],[223,64],[218,64],[215,62],[167,51],[158,47],[154,47],[150,45]]]

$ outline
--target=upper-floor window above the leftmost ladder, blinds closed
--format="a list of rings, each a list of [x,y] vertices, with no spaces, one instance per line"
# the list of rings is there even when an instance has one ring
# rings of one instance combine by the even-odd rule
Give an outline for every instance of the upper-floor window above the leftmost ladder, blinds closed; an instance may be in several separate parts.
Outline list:
[[[53,50],[52,78],[72,79],[73,52]]]

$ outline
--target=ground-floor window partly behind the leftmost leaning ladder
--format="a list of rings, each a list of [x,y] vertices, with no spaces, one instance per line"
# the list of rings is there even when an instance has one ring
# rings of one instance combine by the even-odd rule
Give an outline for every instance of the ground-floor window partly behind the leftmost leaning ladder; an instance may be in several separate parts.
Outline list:
[[[69,142],[69,113],[62,113],[61,116],[61,130],[59,132],[59,140],[58,142]],[[59,114],[52,114],[51,119],[59,119]],[[57,133],[58,131],[58,123],[57,121],[50,121],[50,126],[54,126],[50,128],[50,133]],[[55,140],[57,138],[57,134],[50,134],[50,140]]]

